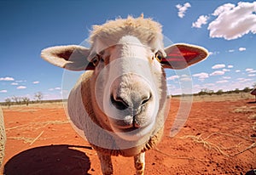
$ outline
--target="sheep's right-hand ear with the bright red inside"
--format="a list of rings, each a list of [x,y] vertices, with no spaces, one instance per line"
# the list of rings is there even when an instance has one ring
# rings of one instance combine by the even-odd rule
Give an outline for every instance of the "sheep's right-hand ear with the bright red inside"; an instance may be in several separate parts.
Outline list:
[[[189,65],[194,65],[202,59],[206,59],[208,56],[207,49],[184,43],[167,47],[165,48],[165,52],[166,57],[161,60],[161,64],[164,68],[174,70],[180,70]]]

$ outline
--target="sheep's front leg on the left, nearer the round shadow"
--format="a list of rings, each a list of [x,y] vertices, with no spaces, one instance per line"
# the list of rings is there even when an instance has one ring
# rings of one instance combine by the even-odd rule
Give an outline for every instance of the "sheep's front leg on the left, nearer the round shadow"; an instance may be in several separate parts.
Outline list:
[[[101,152],[97,152],[97,155],[101,161],[103,175],[113,174],[113,166],[110,155],[103,155]]]

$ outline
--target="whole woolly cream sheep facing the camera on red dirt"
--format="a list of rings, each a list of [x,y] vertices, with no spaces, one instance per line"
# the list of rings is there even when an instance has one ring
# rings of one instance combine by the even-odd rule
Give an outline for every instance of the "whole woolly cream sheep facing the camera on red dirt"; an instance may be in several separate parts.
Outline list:
[[[143,15],[94,25],[90,48],[41,53],[53,65],[84,71],[69,94],[68,116],[96,150],[103,174],[113,174],[112,155],[133,156],[144,174],[145,151],[160,142],[168,109],[164,69],[184,69],[207,55],[185,43],[164,48],[161,25]]]

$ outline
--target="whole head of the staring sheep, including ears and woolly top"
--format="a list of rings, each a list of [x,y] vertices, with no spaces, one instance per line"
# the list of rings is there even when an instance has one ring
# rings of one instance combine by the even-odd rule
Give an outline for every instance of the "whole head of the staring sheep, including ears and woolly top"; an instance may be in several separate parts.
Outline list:
[[[160,122],[165,108],[164,68],[183,69],[207,57],[188,44],[163,47],[161,27],[149,19],[114,20],[95,26],[91,48],[46,48],[42,57],[72,71],[92,70],[92,107],[102,126],[125,140],[138,140]],[[163,115],[163,114],[161,114]]]

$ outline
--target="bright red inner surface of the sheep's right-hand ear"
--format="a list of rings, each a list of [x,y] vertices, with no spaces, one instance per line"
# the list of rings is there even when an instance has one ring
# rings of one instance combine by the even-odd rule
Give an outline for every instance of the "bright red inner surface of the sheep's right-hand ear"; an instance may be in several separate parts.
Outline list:
[[[168,54],[166,57],[167,61],[170,62],[177,62],[177,61],[183,61],[186,60],[187,63],[189,63],[192,59],[195,59],[199,56],[200,53],[193,52],[191,50],[187,50],[185,48],[179,48],[172,50],[172,53]]]

